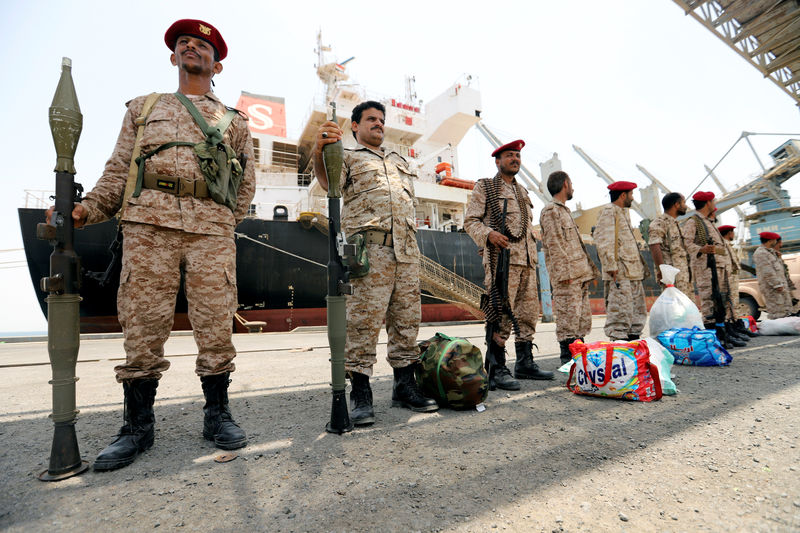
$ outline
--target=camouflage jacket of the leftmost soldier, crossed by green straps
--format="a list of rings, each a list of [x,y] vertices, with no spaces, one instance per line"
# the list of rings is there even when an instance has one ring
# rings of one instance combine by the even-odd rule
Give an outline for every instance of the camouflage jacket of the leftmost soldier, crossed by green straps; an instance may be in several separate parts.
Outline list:
[[[141,114],[146,96],[127,103],[128,111],[111,158],[102,177],[84,198],[83,206],[89,216],[87,224],[102,222],[114,216],[122,205],[131,154],[139,127],[135,124]],[[209,124],[216,124],[226,108],[213,93],[189,96]],[[244,219],[255,194],[253,139],[244,118],[236,117],[225,132],[225,142],[237,154],[247,154],[249,164],[237,195],[236,210],[231,212],[211,198],[178,197],[153,189],[142,189],[138,198],[130,198],[122,215],[123,222],[152,224],[188,233],[233,237],[233,230]],[[202,142],[205,135],[189,111],[173,94],[163,94],[150,111],[141,140],[145,153],[171,141]],[[163,176],[175,176],[191,181],[204,181],[197,156],[191,146],[169,148],[151,157],[145,171]]]

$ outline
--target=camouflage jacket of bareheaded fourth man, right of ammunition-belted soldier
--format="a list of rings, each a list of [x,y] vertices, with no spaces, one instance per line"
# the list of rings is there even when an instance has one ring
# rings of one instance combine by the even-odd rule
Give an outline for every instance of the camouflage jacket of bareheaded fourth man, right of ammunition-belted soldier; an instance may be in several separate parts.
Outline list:
[[[551,280],[583,282],[599,277],[569,207],[556,200],[547,204],[539,215],[539,225]]]

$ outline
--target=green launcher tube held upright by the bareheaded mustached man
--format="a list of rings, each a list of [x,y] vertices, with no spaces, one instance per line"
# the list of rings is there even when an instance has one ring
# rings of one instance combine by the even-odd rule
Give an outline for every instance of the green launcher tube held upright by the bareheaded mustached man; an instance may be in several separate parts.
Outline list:
[[[331,102],[336,122],[336,103]],[[347,383],[344,375],[344,345],[347,337],[347,296],[353,294],[343,259],[355,254],[355,246],[347,244],[341,229],[339,199],[342,197],[341,176],[344,162],[342,141],[322,148],[322,160],[328,176],[328,344],[331,349],[331,420],[325,426],[329,433],[342,434],[353,429],[347,410]]]

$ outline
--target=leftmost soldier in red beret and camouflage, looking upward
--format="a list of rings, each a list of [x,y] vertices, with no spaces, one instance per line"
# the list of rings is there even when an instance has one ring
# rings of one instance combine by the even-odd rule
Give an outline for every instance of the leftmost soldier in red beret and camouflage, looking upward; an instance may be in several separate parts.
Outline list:
[[[172,65],[178,68],[178,93],[188,98],[208,123],[232,120],[222,142],[234,156],[252,159],[253,141],[246,119],[238,112],[227,113],[211,91],[211,80],[222,71],[221,61],[228,53],[219,31],[207,22],[183,19],[169,27],[164,42],[172,51]],[[192,146],[165,146],[172,141],[194,144],[206,140],[178,93],[159,95],[155,101],[140,96],[128,102],[102,177],[72,212],[76,227],[80,227],[107,220],[122,210],[124,241],[117,310],[125,335],[126,361],[114,370],[125,395],[124,425],[97,456],[95,470],[131,464],[153,444],[153,403],[158,380],[170,366],[164,358],[164,343],[172,329],[181,272],[198,349],[195,373],[206,399],[203,436],[225,450],[247,444],[228,408],[228,384],[236,356],[231,342],[237,307],[233,231],[253,198],[255,174],[252,165],[247,166],[238,191],[224,191],[220,198],[224,203],[211,198],[212,192],[219,192],[214,188],[219,174],[204,174]],[[144,109],[146,105],[149,111]],[[225,145],[219,144],[219,148]],[[128,196],[129,173],[130,185],[136,178],[135,152],[148,155],[159,148],[141,163],[144,175],[136,183],[141,191]],[[238,164],[238,159],[232,163],[234,176],[242,174],[241,166],[237,174]]]

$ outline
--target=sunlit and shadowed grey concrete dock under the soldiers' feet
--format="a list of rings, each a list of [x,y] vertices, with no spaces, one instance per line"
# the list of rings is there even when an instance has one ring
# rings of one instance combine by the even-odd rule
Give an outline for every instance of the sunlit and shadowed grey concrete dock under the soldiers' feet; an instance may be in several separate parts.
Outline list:
[[[587,341],[604,340],[595,317]],[[554,324],[534,350],[558,364]],[[482,351],[481,324],[425,325]],[[647,331],[647,330],[646,330]],[[494,391],[483,412],[390,407],[381,334],[372,379],[377,422],[325,432],[324,329],[235,335],[231,410],[248,434],[238,457],[202,437],[190,335],[166,345],[153,448],[126,468],[60,482],[47,343],[0,344],[3,531],[800,531],[800,337],[759,337],[729,367],[675,367],[676,396],[652,403],[575,396],[553,381]],[[509,360],[513,365],[513,348]],[[82,456],[122,423],[113,367],[120,338],[81,340]]]

